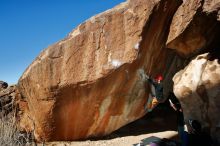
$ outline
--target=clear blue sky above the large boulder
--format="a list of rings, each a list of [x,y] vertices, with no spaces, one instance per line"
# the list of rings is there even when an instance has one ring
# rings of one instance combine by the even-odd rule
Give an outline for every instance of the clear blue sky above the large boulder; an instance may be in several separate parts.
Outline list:
[[[0,0],[0,80],[17,83],[38,54],[125,0]]]

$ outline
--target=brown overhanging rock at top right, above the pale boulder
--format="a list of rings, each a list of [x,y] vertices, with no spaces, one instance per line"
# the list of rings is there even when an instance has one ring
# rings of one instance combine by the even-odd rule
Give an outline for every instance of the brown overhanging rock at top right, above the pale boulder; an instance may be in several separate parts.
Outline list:
[[[206,49],[219,37],[219,10],[219,0],[185,0],[174,15],[167,47],[185,57]]]

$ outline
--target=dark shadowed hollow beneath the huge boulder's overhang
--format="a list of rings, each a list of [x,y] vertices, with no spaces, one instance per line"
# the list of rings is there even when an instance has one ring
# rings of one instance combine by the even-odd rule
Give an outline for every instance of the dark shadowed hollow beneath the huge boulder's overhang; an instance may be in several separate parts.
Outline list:
[[[156,107],[152,112],[147,113],[141,119],[125,125],[124,127],[101,139],[113,139],[117,137],[137,136],[142,134],[176,130],[177,123],[175,112],[169,107],[168,103],[165,102],[158,105],[158,107]]]

